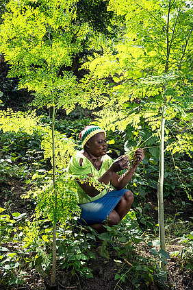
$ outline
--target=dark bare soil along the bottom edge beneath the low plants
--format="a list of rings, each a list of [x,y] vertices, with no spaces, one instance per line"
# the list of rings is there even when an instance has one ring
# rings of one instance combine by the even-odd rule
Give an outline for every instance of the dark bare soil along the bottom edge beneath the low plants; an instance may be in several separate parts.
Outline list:
[[[170,245],[166,248],[168,252],[180,250],[179,245]],[[148,255],[146,247],[141,249],[144,255]],[[110,252],[110,259],[104,258],[99,254],[99,249],[94,250],[97,258],[90,262],[89,267],[92,268],[94,278],[77,278],[72,277],[70,272],[64,273],[59,271],[57,273],[57,286],[50,287],[49,280],[44,281],[38,274],[31,274],[31,280],[26,288],[19,289],[73,289],[73,290],[193,290],[193,277],[190,271],[184,270],[177,258],[171,258],[168,262],[168,276],[165,285],[155,285],[153,282],[146,284],[144,280],[138,281],[138,288],[134,287],[132,281],[129,278],[125,279],[125,282],[114,280],[114,276],[118,271],[118,265],[116,263],[116,255],[114,252]],[[128,268],[129,269],[128,265]]]

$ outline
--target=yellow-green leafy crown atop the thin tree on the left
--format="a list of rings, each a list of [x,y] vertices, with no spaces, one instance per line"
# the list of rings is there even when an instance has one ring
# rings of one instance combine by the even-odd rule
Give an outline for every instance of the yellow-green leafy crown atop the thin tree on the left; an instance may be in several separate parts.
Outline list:
[[[21,78],[19,88],[36,91],[36,106],[74,103],[75,77],[62,68],[71,66],[87,33],[85,24],[73,24],[75,3],[13,0],[3,16],[0,49],[11,64],[8,76]]]

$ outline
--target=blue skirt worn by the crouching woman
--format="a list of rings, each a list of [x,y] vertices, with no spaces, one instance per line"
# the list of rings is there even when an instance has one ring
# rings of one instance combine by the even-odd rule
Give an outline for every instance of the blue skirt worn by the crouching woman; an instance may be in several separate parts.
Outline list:
[[[92,223],[104,223],[127,191],[128,189],[110,191],[99,198],[99,200],[94,200],[94,202],[88,202],[86,204],[79,204],[81,215],[78,222],[83,226],[88,226]]]

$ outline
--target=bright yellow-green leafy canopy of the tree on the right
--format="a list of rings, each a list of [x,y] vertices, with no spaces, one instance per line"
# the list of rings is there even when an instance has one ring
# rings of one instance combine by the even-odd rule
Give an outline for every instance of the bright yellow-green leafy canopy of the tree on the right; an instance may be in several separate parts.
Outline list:
[[[162,107],[166,106],[164,117],[175,122],[177,130],[188,124],[187,136],[181,136],[180,142],[175,136],[170,149],[178,143],[188,153],[193,143],[192,4],[134,0],[128,5],[110,0],[109,9],[125,18],[122,31],[112,45],[101,43],[103,56],[96,53],[85,64],[95,78],[111,77],[106,86],[110,97],[97,112],[101,125],[120,131],[128,124],[133,130],[143,126],[159,134]]]

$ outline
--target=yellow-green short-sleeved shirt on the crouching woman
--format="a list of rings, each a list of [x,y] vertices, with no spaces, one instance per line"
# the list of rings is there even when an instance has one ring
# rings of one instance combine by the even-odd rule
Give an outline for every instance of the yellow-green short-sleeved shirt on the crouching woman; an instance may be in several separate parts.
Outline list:
[[[83,160],[81,166],[79,164],[80,158]],[[88,176],[88,174],[92,174],[92,177],[95,180],[98,180],[101,176],[103,176],[107,169],[110,168],[110,165],[112,165],[113,162],[112,158],[110,158],[108,155],[104,155],[102,158],[103,163],[101,168],[97,170],[94,165],[92,165],[92,162],[86,158],[86,156],[84,156],[80,151],[77,151],[76,154],[70,159],[67,171],[68,173],[74,174],[75,176]],[[110,183],[108,185],[110,185]],[[89,197],[86,195],[85,191],[81,189],[81,186],[77,184],[77,192],[79,195],[79,204],[86,204],[87,202],[98,200],[100,197],[107,193],[107,189],[101,191],[101,193],[99,193],[97,196]]]

